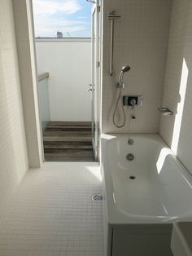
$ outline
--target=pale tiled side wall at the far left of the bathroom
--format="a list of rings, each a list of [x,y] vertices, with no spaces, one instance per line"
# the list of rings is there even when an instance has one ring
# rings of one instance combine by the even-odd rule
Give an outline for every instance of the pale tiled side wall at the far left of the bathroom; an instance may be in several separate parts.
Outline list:
[[[0,212],[28,170],[12,1],[0,1]]]

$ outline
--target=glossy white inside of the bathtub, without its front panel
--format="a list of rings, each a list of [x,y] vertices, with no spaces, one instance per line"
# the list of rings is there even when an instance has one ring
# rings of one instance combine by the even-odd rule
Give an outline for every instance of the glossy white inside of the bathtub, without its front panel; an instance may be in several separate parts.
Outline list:
[[[192,213],[191,176],[158,135],[107,139],[107,169],[116,207],[124,214],[177,218]],[[127,160],[132,153],[133,161]]]

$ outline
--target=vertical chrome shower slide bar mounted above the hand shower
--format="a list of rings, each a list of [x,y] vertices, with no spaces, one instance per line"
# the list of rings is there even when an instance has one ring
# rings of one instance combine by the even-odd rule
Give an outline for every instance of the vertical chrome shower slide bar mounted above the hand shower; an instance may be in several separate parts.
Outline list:
[[[112,73],[113,73],[114,20],[116,18],[120,18],[120,15],[116,15],[116,11],[111,11],[108,14],[108,19],[111,20],[110,67],[109,67],[110,76],[112,76]]]

